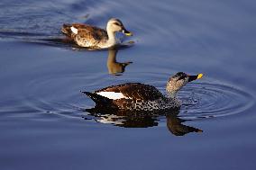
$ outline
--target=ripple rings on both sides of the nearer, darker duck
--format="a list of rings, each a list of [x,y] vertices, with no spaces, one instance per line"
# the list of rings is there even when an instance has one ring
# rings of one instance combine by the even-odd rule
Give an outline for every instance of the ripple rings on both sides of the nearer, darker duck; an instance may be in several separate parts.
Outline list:
[[[140,82],[139,79],[144,73],[139,74],[138,79],[129,76],[110,78],[104,73],[89,75],[78,73],[43,76],[35,79],[26,87],[26,104],[41,112],[78,117],[85,113],[83,112],[85,108],[94,105],[92,101],[80,94],[80,90],[94,91],[108,85],[118,85],[132,80],[132,82],[136,80]],[[159,77],[158,74],[151,73],[143,77],[146,84],[151,84],[148,81],[154,77],[153,79],[156,80],[154,85],[164,93],[166,82],[163,81],[162,76]],[[39,95],[35,96],[35,94]],[[229,85],[217,83],[187,84],[178,93],[178,98],[183,103],[178,115],[182,119],[189,120],[238,114],[248,110],[254,104],[251,94]]]

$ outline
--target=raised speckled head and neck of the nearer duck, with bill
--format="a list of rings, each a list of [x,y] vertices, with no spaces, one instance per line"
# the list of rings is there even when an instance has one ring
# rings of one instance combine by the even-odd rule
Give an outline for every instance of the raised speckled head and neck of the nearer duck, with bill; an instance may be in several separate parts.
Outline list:
[[[170,96],[175,97],[178,90],[180,90],[184,85],[187,85],[188,82],[192,82],[202,77],[203,77],[203,74],[190,76],[190,75],[187,75],[186,73],[178,72],[177,74],[169,78],[166,90],[168,94],[170,94]]]

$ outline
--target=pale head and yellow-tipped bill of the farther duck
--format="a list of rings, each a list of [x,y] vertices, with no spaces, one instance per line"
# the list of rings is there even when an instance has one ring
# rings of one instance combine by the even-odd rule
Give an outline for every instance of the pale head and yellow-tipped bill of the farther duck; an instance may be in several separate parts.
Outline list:
[[[126,36],[132,36],[133,33],[130,31],[127,31],[124,26],[123,22],[116,18],[110,19],[106,24],[106,31],[116,32],[116,31],[122,31]]]

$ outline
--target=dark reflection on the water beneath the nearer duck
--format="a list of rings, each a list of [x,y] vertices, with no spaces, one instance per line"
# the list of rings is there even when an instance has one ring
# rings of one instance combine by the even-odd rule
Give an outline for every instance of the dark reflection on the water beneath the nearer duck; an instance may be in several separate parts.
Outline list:
[[[183,136],[189,132],[203,132],[194,127],[182,124],[186,120],[178,118],[178,110],[172,112],[127,112],[106,111],[104,108],[87,109],[97,122],[110,123],[124,128],[147,128],[158,126],[160,120],[166,118],[169,132],[175,136]]]

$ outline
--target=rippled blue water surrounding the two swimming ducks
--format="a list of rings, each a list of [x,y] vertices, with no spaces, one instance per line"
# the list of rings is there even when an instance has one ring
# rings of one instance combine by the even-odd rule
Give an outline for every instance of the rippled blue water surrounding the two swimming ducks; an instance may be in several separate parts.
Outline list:
[[[2,0],[0,9],[1,169],[255,166],[255,2]],[[134,34],[117,63],[61,40],[64,22],[105,27],[113,16]],[[169,115],[88,112],[94,103],[80,93],[125,82],[164,92],[178,71],[205,76]]]

